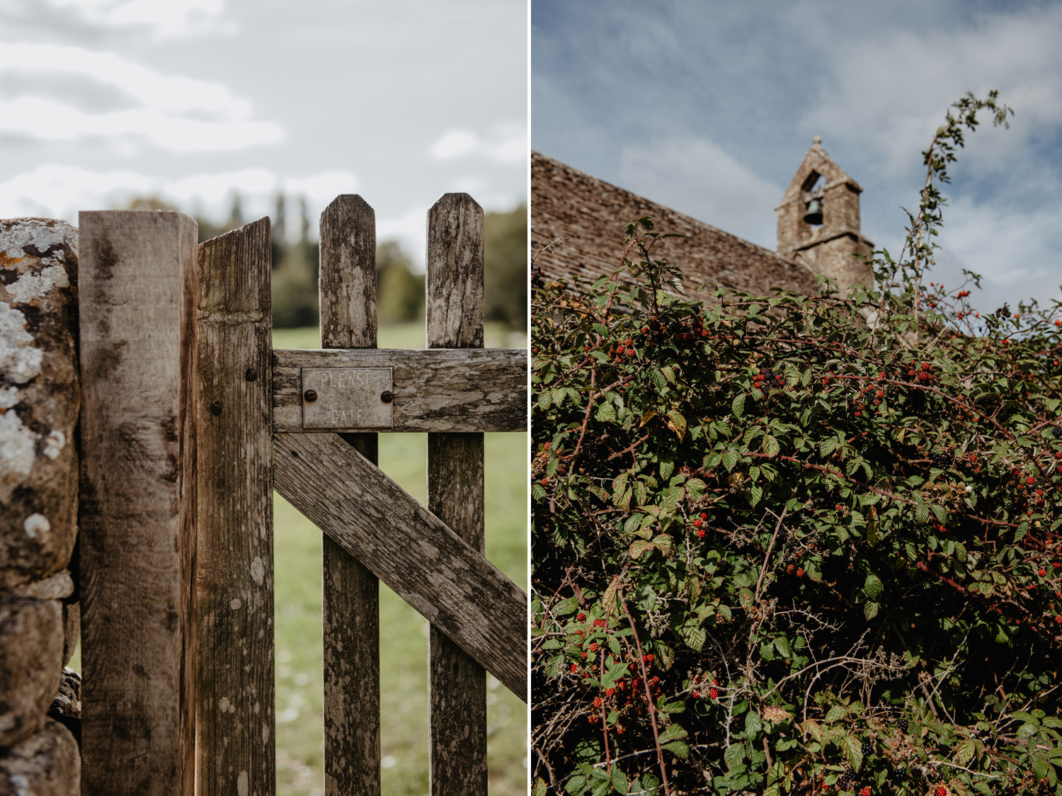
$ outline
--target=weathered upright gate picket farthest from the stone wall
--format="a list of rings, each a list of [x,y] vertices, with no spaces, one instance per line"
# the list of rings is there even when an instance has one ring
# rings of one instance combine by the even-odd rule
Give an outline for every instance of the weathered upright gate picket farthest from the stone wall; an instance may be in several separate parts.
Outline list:
[[[482,349],[483,210],[472,197],[447,193],[428,211],[426,265],[428,348]],[[483,554],[482,434],[428,435],[428,510]],[[433,796],[486,796],[486,673],[434,625],[428,733]]]

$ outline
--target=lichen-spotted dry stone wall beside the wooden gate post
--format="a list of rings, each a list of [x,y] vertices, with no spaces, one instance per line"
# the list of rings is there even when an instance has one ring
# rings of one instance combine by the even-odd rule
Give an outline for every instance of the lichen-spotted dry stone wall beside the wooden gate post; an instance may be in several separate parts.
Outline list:
[[[76,294],[76,228],[0,220],[0,796],[80,791]]]

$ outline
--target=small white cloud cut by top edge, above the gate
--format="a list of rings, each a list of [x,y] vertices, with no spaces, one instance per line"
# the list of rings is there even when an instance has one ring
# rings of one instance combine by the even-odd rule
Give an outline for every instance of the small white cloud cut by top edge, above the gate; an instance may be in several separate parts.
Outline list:
[[[73,11],[92,24],[143,27],[159,38],[236,32],[224,17],[224,0],[50,0],[50,4]]]

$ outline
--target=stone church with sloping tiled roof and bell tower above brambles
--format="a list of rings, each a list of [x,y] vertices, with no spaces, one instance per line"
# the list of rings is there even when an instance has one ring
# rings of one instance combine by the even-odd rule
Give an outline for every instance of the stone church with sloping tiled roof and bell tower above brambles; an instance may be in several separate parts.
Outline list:
[[[532,152],[531,251],[547,280],[593,281],[619,266],[623,225],[650,216],[656,231],[686,236],[662,240],[653,254],[682,267],[691,298],[708,300],[713,285],[810,294],[818,291],[820,273],[835,278],[843,294],[852,285],[873,284],[870,265],[854,256],[873,250],[859,232],[860,191],[816,136],[775,208],[778,237],[772,252]]]

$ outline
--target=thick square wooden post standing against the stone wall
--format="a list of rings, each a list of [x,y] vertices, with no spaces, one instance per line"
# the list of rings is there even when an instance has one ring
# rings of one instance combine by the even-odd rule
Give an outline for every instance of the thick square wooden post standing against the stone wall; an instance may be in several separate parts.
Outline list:
[[[80,226],[82,793],[190,796],[196,224]]]

